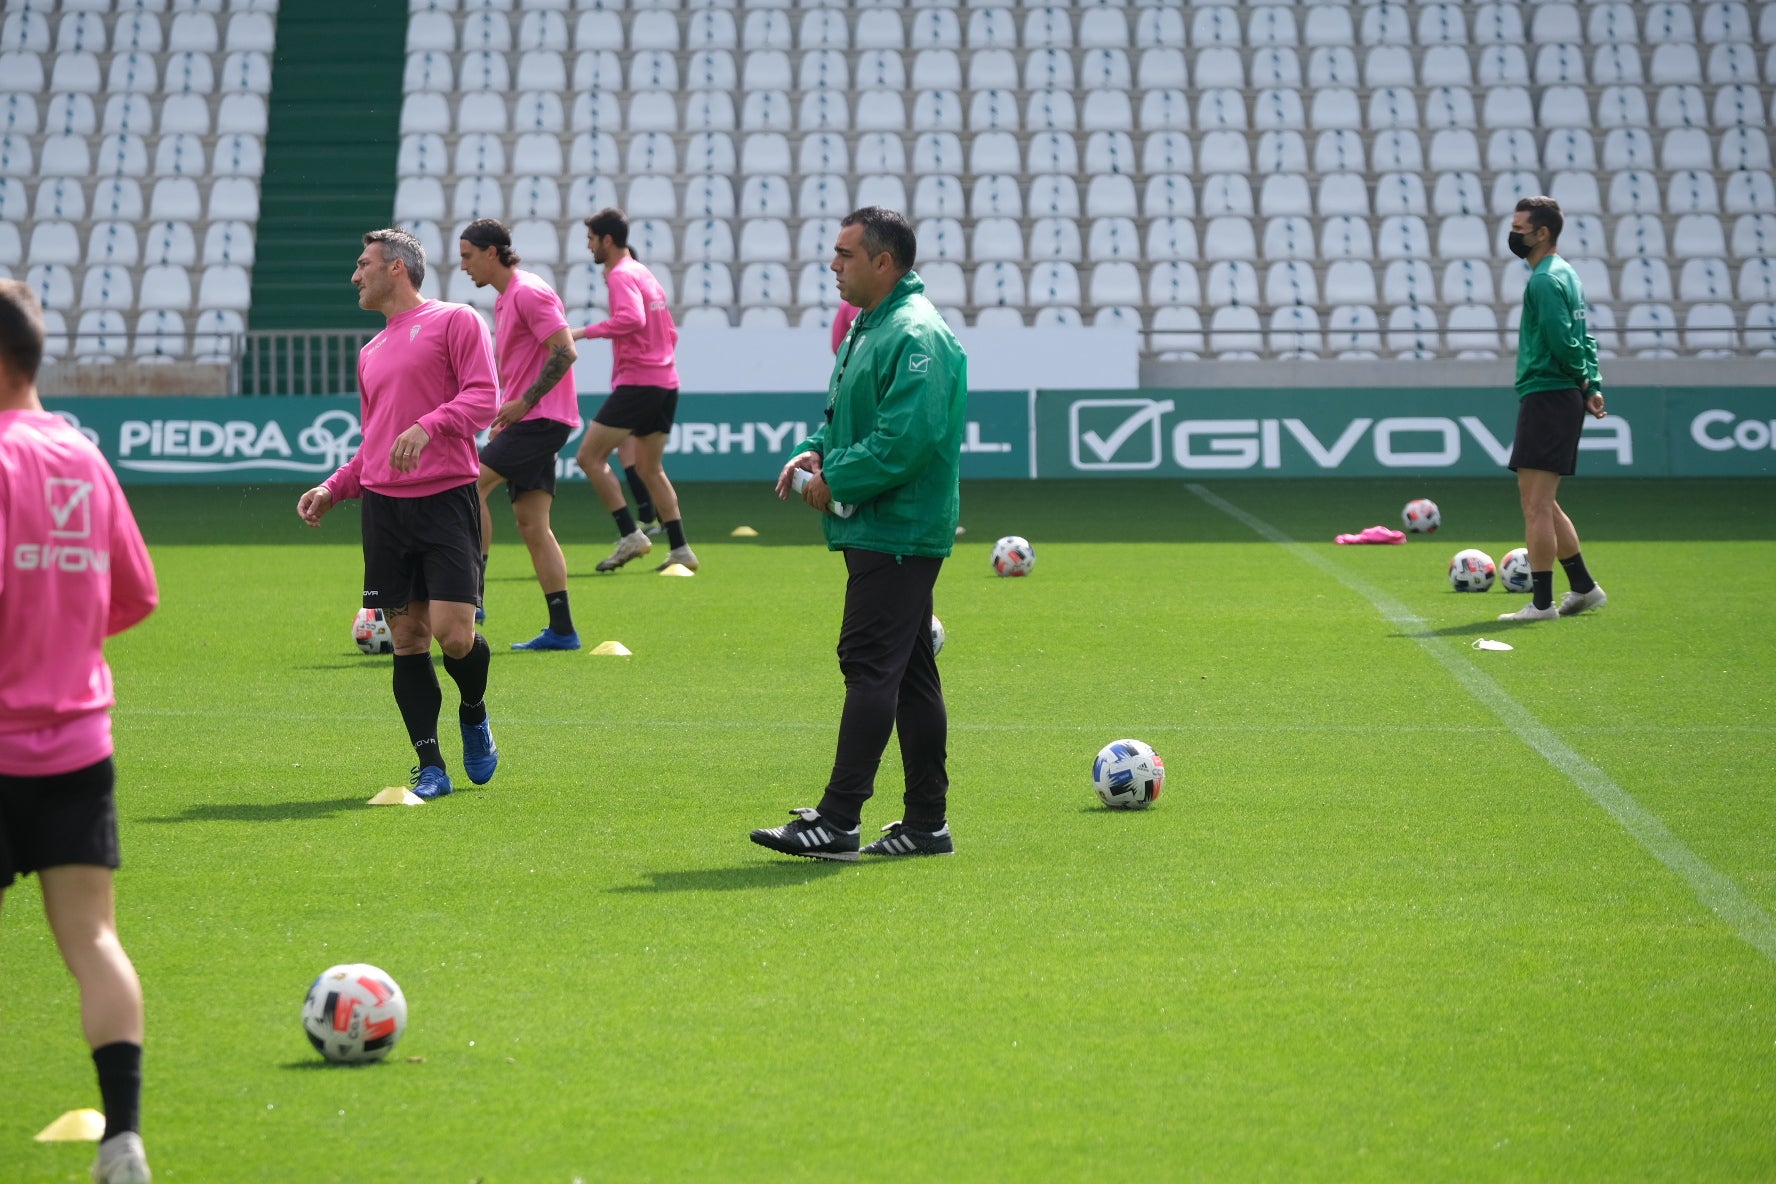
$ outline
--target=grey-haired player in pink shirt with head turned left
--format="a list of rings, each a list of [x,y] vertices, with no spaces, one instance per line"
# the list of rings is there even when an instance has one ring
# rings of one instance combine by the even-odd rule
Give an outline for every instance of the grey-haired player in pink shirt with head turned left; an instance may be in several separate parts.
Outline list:
[[[474,628],[481,586],[481,458],[474,437],[499,410],[494,346],[465,304],[419,295],[426,249],[407,231],[371,231],[352,282],[357,304],[389,318],[357,355],[364,438],[325,483],[297,502],[309,525],[348,497],[364,499],[364,607],[394,635],[394,705],[419,767],[414,793],[451,792],[439,753],[442,692],[432,639],[462,692],[462,765],[487,785],[499,749],[487,722],[487,637]]]

